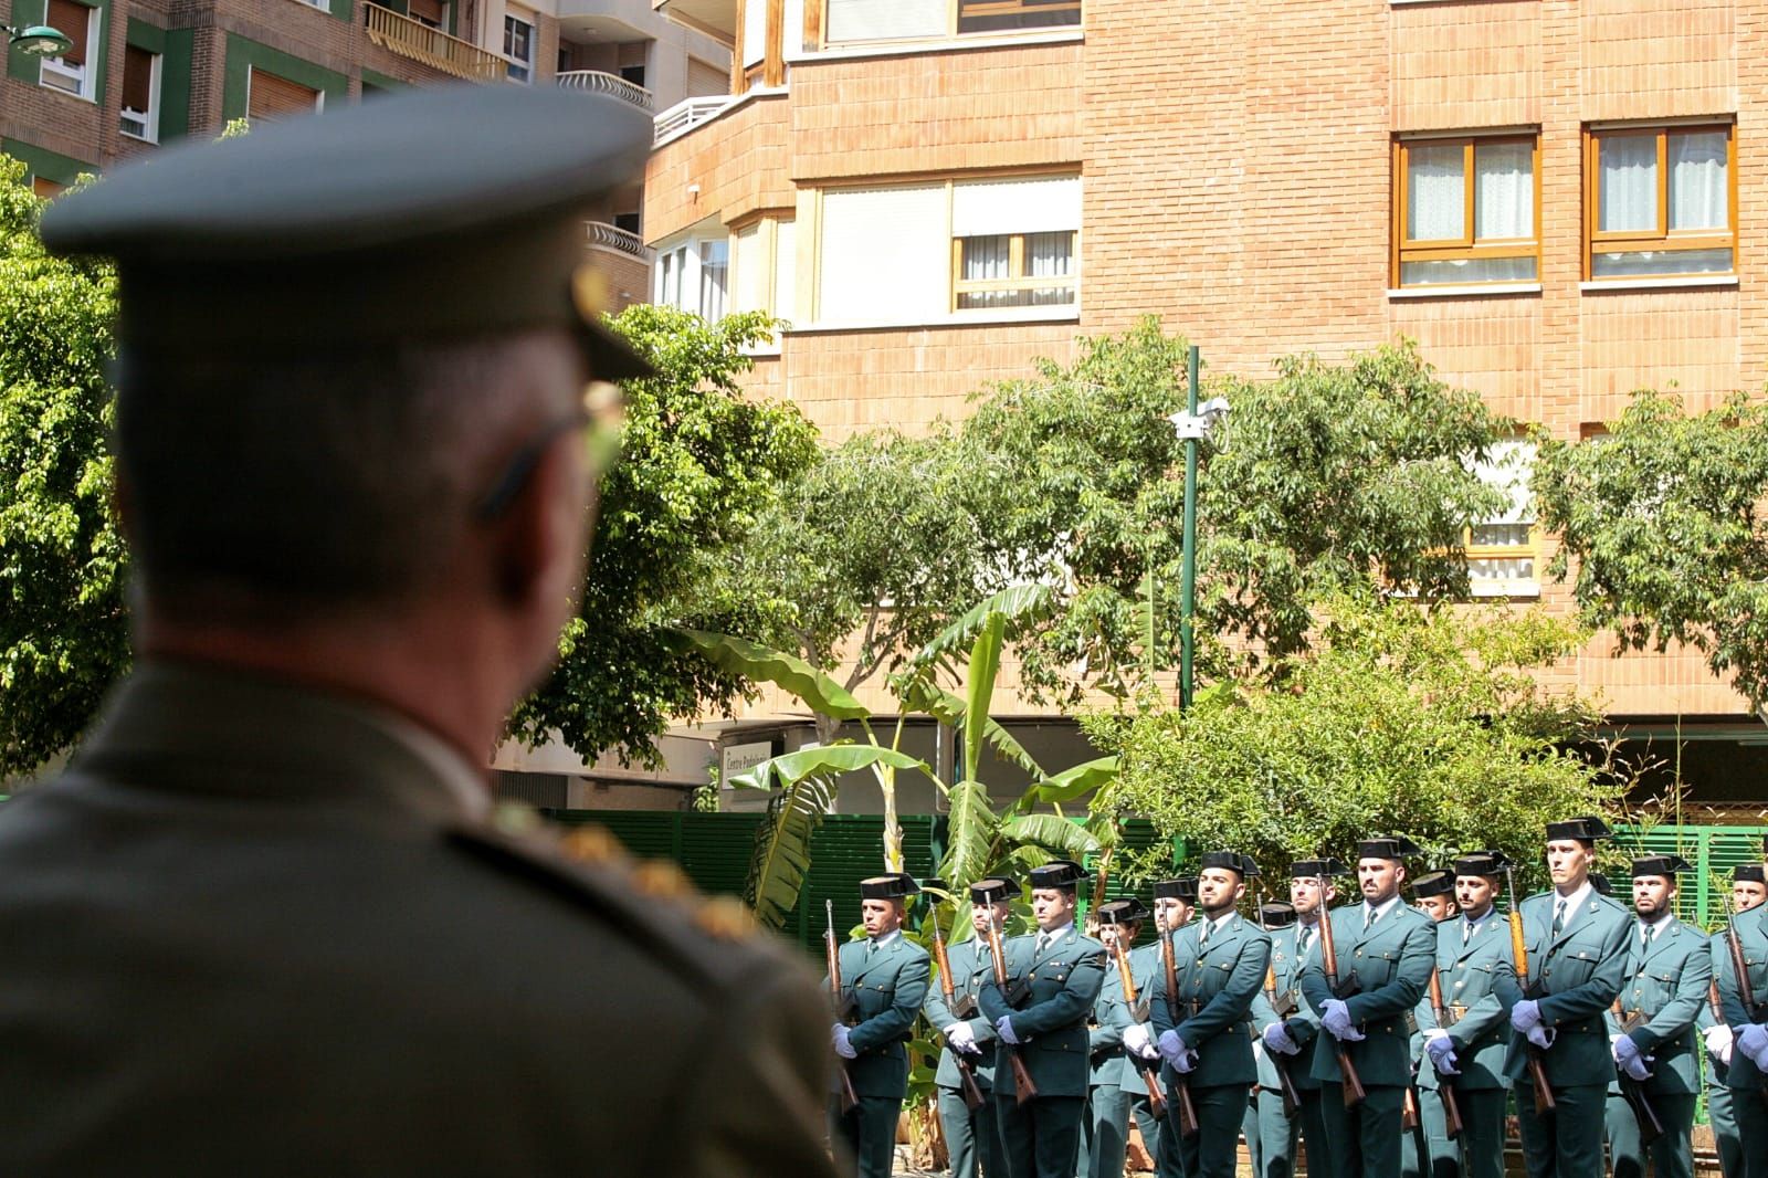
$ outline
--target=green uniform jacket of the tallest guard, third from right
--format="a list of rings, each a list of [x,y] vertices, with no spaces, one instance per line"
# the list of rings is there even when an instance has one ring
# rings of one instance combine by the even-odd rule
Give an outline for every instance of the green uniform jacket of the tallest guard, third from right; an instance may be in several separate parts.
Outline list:
[[[1554,937],[1552,907],[1552,891],[1522,900],[1522,939],[1529,950],[1529,989],[1522,998],[1540,1001],[1542,1024],[1558,1033],[1547,1049],[1547,1082],[1607,1084],[1614,1079],[1614,1056],[1604,1015],[1621,992],[1627,937],[1637,922],[1621,904],[1591,890]],[[1526,1068],[1524,1038],[1512,1031],[1505,1075],[1520,1079]]]

